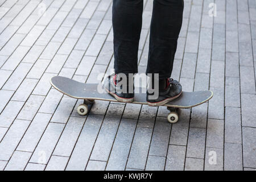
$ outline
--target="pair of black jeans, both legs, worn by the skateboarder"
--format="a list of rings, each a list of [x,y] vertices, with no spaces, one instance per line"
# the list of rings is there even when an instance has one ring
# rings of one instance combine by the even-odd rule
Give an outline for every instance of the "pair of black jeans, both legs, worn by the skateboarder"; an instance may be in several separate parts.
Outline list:
[[[183,7],[183,0],[154,0],[146,73],[171,76]],[[113,0],[112,8],[115,73],[138,73],[143,0]]]

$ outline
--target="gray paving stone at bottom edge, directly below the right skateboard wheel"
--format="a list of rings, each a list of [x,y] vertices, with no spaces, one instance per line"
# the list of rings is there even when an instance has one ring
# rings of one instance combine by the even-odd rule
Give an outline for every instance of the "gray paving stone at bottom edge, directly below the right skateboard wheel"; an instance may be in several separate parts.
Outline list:
[[[185,163],[185,146],[170,145],[166,158],[166,171],[183,171]]]

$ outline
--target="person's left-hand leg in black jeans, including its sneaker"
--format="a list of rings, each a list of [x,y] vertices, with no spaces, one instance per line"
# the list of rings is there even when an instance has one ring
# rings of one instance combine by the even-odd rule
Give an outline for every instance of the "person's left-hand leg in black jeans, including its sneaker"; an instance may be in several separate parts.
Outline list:
[[[121,102],[134,100],[133,76],[129,77],[128,74],[138,72],[142,11],[143,0],[113,0],[115,74],[106,78],[104,86],[114,98]],[[122,82],[124,77],[127,79]]]

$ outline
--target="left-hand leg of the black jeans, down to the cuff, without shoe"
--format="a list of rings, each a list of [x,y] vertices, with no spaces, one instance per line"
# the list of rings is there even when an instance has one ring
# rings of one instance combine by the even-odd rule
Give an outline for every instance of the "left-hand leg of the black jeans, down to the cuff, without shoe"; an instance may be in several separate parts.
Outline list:
[[[143,0],[113,0],[115,73],[138,72],[138,47],[142,28]]]

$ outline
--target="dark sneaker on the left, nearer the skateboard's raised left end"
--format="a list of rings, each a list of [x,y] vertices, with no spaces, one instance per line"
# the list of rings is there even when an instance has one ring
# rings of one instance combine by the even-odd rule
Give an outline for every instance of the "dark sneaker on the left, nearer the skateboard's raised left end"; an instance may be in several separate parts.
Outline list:
[[[122,93],[122,85],[118,85],[117,74],[112,74],[106,77],[104,80],[105,90],[112,95],[119,102],[133,102],[134,101],[134,91],[133,93],[128,93],[128,84],[127,92]]]

